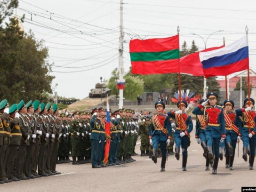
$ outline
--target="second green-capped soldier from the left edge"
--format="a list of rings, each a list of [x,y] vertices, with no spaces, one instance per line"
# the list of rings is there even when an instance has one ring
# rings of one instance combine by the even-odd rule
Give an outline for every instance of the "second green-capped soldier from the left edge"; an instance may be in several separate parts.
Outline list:
[[[14,162],[18,154],[20,142],[21,142],[21,131],[19,127],[19,113],[17,113],[17,104],[13,104],[9,110],[10,119],[10,130],[11,137],[9,139],[9,148],[7,150],[7,178],[10,181],[20,181],[20,179],[14,177]]]

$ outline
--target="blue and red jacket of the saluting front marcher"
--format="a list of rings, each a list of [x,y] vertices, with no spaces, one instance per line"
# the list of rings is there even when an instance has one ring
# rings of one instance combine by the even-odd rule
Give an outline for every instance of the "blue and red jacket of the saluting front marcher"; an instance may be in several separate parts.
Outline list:
[[[205,131],[211,131],[213,138],[226,137],[225,119],[223,108],[221,106],[215,105],[214,107],[203,107],[202,105],[199,105],[195,107],[192,113],[195,115],[205,115],[205,121],[207,123]]]

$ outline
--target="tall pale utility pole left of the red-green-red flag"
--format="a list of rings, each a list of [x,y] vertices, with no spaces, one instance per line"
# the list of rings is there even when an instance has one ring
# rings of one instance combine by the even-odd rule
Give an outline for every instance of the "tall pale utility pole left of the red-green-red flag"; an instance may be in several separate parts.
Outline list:
[[[123,65],[123,0],[120,0],[120,37],[119,37],[119,80],[122,81],[124,74],[124,65]],[[119,108],[123,108],[124,105],[124,90],[119,89]]]

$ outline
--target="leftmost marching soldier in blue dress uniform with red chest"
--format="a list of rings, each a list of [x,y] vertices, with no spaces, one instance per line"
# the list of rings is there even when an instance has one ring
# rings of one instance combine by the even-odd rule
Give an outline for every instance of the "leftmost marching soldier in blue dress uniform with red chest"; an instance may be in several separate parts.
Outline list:
[[[153,145],[152,160],[157,163],[157,149],[158,144],[162,151],[161,171],[165,171],[166,163],[166,145],[170,145],[172,127],[170,117],[163,114],[165,104],[163,101],[155,103],[156,114],[152,116],[151,127],[149,129],[149,142]]]

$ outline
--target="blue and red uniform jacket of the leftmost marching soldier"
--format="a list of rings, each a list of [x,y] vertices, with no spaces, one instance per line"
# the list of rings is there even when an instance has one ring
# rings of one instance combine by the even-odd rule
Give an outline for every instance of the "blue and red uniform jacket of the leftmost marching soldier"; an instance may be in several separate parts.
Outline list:
[[[165,114],[155,114],[159,123],[161,123],[162,127],[166,130],[167,135],[159,129],[157,124],[155,123],[154,118],[156,116],[153,115],[151,119],[151,125],[149,129],[149,138],[154,137],[154,135],[159,135],[161,141],[166,141],[167,139],[171,139],[172,136],[172,127],[170,123],[170,117]]]

